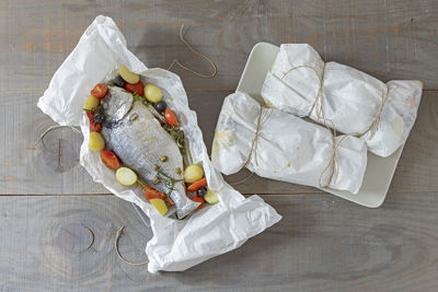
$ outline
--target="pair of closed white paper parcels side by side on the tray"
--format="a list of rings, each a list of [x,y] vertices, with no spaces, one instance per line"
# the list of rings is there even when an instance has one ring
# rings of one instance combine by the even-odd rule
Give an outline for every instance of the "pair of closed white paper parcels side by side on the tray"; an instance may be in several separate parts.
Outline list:
[[[357,194],[367,151],[387,157],[406,141],[422,89],[420,81],[383,83],[324,62],[306,44],[281,45],[263,84],[265,105],[240,92],[226,97],[212,162],[227,175],[247,167],[263,177]]]

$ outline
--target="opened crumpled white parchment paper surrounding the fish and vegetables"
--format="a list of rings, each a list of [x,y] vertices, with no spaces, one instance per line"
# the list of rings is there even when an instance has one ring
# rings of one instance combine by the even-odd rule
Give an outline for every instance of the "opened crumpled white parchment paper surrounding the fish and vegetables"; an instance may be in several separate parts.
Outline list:
[[[100,153],[90,151],[90,125],[82,105],[90,90],[96,83],[114,78],[122,65],[140,73],[142,82],[162,90],[163,100],[174,110],[184,130],[193,163],[204,167],[209,188],[219,197],[218,203],[196,210],[184,220],[163,217],[148,202],[142,189],[117,183],[115,172],[104,166]],[[196,113],[188,108],[180,78],[168,70],[148,69],[127,49],[124,36],[110,17],[97,16],[87,28],[78,46],[56,71],[49,87],[38,101],[38,107],[58,124],[80,126],[84,137],[80,151],[81,165],[94,182],[117,197],[136,203],[150,218],[153,237],[146,246],[150,272],[191,268],[238,248],[247,238],[280,220],[280,215],[261,197],[245,198],[227,185],[208,157]],[[136,215],[134,210],[132,215]]]

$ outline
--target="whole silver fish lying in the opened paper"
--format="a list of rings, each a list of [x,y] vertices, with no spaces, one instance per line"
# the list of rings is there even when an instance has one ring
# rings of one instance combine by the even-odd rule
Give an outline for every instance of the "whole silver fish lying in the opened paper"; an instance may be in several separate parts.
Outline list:
[[[164,194],[170,192],[178,219],[192,213],[199,203],[186,196],[183,156],[171,135],[161,126],[153,107],[134,101],[132,95],[120,87],[108,86],[102,108],[105,114],[102,135],[106,148],[145,183]],[[157,175],[162,178],[160,183],[155,180]]]

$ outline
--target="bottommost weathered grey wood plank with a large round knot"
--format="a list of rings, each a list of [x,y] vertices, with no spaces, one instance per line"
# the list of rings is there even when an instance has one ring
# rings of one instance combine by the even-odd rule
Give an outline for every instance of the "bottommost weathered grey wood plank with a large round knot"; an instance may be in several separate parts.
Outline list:
[[[2,197],[0,290],[436,291],[436,192],[390,196],[380,209],[325,195],[264,199],[284,215],[278,224],[184,273],[148,275],[114,253],[124,224],[122,253],[145,259],[150,233],[129,203]]]

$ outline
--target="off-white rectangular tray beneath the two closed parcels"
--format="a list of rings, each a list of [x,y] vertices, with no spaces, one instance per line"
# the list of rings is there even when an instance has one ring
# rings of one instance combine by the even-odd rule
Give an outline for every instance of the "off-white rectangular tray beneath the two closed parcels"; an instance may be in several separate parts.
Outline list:
[[[250,94],[258,102],[264,103],[261,96],[262,85],[266,73],[273,67],[279,47],[267,43],[258,43],[251,50],[237,91]],[[341,198],[366,206],[377,208],[387,197],[392,176],[402,154],[403,145],[389,157],[379,157],[368,152],[368,165],[365,172],[364,183],[358,194],[349,191],[322,188]]]

